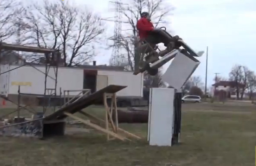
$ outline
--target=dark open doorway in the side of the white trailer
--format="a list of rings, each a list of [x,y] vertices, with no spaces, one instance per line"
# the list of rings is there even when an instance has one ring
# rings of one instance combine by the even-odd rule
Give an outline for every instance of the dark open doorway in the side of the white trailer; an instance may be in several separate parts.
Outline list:
[[[96,91],[97,70],[83,70],[83,89],[90,89],[91,93]]]

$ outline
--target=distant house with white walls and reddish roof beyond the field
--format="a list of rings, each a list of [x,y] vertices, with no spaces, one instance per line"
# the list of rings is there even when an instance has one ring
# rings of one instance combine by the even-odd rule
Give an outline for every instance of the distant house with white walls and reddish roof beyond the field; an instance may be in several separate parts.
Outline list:
[[[214,89],[216,87],[216,91]],[[238,83],[240,88],[239,97],[241,97],[243,84]],[[237,86],[235,81],[219,81],[211,86],[211,96],[219,96],[220,91],[224,92],[227,98],[237,97]],[[244,95],[244,97],[246,97]]]

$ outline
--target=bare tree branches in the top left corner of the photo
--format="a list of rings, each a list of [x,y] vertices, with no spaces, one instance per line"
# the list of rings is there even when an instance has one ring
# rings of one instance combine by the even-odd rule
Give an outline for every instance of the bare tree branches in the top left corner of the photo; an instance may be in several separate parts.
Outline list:
[[[0,10],[0,41],[5,41],[15,34],[15,20],[21,9],[16,0],[1,0]]]

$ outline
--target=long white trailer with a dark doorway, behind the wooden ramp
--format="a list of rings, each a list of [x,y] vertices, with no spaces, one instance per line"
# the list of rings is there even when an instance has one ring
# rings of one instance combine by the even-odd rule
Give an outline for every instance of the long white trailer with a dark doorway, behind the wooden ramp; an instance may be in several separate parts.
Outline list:
[[[45,66],[17,67],[19,66],[1,65],[1,73],[11,71],[0,75],[0,93],[6,96],[18,94],[18,85],[20,85],[21,93],[44,94]],[[143,97],[143,74],[133,75],[132,72],[109,69],[108,67],[110,66],[58,67],[57,95],[60,94],[60,89],[62,94],[64,90],[91,89],[94,92],[114,84],[128,86],[117,93],[118,97]],[[51,66],[48,69],[46,88],[55,88],[56,68]],[[77,93],[79,92],[73,92],[70,95]]]

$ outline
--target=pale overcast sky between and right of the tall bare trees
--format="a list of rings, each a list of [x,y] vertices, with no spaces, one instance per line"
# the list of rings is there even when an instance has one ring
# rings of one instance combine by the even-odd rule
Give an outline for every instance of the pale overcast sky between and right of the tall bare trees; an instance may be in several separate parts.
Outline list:
[[[73,2],[90,6],[104,18],[114,16],[108,0]],[[170,3],[176,9],[169,18],[172,23],[167,28],[194,50],[206,52],[206,47],[209,47],[209,85],[213,83],[214,72],[228,77],[231,67],[237,63],[256,71],[256,53],[253,49],[253,43],[256,43],[256,0],[170,0]],[[114,22],[106,24],[108,34],[113,34]],[[98,64],[106,64],[111,52],[104,50],[95,60]],[[200,75],[205,80],[206,53],[198,60],[201,64],[194,75]],[[167,67],[164,66],[165,69]]]

